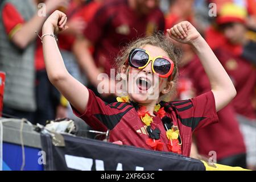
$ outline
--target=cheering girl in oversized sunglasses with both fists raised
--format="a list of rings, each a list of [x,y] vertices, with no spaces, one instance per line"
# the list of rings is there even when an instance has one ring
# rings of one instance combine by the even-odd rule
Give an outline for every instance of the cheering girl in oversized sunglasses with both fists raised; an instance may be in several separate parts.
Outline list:
[[[65,14],[55,11],[44,23],[43,33],[65,30],[66,22]],[[127,145],[189,156],[192,131],[217,122],[216,111],[236,96],[236,90],[191,23],[181,22],[167,32],[170,38],[191,44],[196,50],[209,76],[211,91],[185,101],[163,101],[175,89],[179,57],[163,35],[138,39],[117,59],[121,77],[127,82],[127,88],[123,88],[127,96],[118,98],[118,102],[102,101],[69,75],[55,39],[45,36],[43,48],[49,80],[93,129],[110,130],[111,142],[120,140]]]

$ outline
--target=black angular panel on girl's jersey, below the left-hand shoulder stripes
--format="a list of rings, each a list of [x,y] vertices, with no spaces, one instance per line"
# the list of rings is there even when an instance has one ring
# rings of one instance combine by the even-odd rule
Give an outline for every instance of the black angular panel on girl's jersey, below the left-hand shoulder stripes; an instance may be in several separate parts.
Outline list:
[[[106,115],[106,114],[94,114],[94,116],[109,130],[112,130],[122,119],[129,110],[133,109],[133,106],[128,107],[125,111],[118,114]]]

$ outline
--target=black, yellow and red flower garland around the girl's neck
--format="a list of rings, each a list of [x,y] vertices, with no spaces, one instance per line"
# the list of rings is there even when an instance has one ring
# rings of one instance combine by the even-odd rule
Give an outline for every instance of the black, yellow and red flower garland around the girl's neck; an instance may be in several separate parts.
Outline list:
[[[138,112],[138,117],[144,125],[147,126],[147,133],[150,138],[146,140],[146,144],[151,146],[153,150],[162,151],[164,143],[160,140],[161,131],[158,128],[152,129],[151,123],[153,122],[153,117],[150,115],[145,106],[139,106],[137,103],[130,101],[129,96],[117,97],[118,102],[129,102],[132,104]],[[167,117],[164,107],[160,104],[155,105],[154,111],[158,113],[162,120],[164,129],[166,130],[166,137],[168,138],[167,148],[169,151],[181,154],[181,139],[180,132],[177,126],[174,126],[172,119]],[[179,143],[180,142],[180,143]]]

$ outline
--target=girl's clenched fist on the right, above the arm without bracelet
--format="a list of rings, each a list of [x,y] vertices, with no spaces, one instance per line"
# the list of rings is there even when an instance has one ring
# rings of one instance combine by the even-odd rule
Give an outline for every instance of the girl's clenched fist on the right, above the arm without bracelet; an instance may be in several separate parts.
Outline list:
[[[167,29],[167,32],[170,38],[183,44],[193,44],[201,37],[196,28],[188,21],[175,24],[171,29]]]

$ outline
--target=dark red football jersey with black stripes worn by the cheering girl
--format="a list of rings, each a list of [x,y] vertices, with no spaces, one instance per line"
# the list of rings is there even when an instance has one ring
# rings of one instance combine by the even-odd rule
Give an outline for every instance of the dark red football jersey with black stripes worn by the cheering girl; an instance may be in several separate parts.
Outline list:
[[[89,90],[89,89],[88,89]],[[180,130],[182,141],[181,154],[190,155],[192,131],[218,122],[216,106],[212,92],[207,92],[190,100],[162,102],[168,117],[172,119],[174,126]],[[82,118],[94,130],[110,130],[110,142],[120,140],[123,144],[151,150],[146,144],[149,138],[145,131],[146,125],[138,117],[134,106],[126,102],[114,102],[108,104],[96,97],[89,90],[89,101],[84,113],[74,113]],[[156,127],[161,131],[160,140],[164,143],[163,151],[168,151],[168,139],[162,120],[158,113],[154,113],[151,123],[152,129]]]

